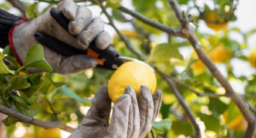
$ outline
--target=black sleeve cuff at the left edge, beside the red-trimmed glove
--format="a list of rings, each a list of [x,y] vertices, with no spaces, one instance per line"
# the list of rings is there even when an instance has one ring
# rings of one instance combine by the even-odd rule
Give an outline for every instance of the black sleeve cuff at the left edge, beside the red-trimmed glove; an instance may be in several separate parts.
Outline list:
[[[8,13],[5,10],[0,8],[0,47],[4,48],[9,44],[8,41],[8,32],[11,27],[15,25],[17,20],[19,20],[19,16],[15,16],[13,14]]]

